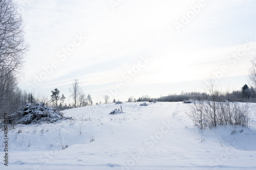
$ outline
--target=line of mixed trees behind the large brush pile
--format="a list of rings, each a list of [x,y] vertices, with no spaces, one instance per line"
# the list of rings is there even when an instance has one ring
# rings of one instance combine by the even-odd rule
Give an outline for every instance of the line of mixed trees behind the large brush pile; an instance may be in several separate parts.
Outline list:
[[[2,72],[3,74],[3,72]],[[1,72],[0,72],[1,75]],[[45,106],[54,107],[57,110],[65,110],[76,107],[93,105],[90,94],[86,95],[78,85],[78,80],[70,88],[70,97],[74,102],[65,103],[66,96],[55,88],[51,91],[50,98],[46,95],[33,94],[32,92],[23,91],[17,87],[17,80],[12,78],[12,74],[0,77],[0,117],[4,113],[12,113],[30,103],[43,103]]]

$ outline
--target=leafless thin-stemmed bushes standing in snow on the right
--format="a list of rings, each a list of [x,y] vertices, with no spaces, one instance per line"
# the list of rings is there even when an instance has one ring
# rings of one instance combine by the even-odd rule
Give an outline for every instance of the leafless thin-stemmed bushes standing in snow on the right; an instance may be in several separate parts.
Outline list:
[[[248,127],[251,120],[248,103],[216,102],[215,110],[211,101],[195,101],[186,113],[200,129],[217,125]]]

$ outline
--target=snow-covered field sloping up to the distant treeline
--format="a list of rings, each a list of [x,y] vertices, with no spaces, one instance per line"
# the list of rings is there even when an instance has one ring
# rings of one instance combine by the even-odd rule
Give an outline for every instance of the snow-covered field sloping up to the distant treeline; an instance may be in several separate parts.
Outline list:
[[[184,113],[189,104],[141,103],[119,104],[124,113],[114,115],[119,105],[65,110],[73,120],[9,130],[0,169],[256,169],[255,121],[199,130]]]

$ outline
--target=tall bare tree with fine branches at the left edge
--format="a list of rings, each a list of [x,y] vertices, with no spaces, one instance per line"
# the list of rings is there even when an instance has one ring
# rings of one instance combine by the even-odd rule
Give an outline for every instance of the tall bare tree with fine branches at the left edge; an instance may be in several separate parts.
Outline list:
[[[17,80],[27,48],[17,6],[11,0],[0,1],[0,114],[17,109]]]

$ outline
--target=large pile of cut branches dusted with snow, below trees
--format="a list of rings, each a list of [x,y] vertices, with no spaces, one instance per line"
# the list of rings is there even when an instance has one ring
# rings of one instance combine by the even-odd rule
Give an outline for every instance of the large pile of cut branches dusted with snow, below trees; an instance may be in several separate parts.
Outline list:
[[[63,113],[55,109],[45,106],[43,103],[27,104],[20,111],[9,116],[11,124],[37,124],[37,123],[54,123],[58,120],[67,119],[63,117]]]

